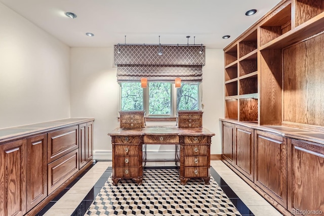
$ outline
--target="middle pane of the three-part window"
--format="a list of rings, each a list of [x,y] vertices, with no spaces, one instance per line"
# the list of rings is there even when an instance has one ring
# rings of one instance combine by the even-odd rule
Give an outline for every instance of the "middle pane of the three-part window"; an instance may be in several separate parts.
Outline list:
[[[170,115],[171,114],[171,83],[150,82],[149,83],[149,114]]]

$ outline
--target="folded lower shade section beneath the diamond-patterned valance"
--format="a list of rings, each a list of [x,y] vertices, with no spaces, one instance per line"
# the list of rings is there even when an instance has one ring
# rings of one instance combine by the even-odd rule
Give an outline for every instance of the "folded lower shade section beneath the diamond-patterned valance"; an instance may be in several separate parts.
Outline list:
[[[203,66],[201,65],[118,65],[117,81],[174,81],[180,77],[183,82],[201,82]]]

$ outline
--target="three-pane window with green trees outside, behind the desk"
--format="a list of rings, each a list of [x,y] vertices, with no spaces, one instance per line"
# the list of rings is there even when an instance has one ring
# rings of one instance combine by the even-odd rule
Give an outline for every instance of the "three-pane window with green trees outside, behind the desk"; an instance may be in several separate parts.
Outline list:
[[[146,116],[175,117],[178,110],[198,110],[200,82],[149,82],[146,89],[140,82],[119,82],[120,110],[145,110]]]

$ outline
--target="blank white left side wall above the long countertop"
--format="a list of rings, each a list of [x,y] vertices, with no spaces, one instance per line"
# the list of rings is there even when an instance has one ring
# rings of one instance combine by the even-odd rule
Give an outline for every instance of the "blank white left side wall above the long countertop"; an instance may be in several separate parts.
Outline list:
[[[69,115],[69,47],[0,3],[0,128]]]

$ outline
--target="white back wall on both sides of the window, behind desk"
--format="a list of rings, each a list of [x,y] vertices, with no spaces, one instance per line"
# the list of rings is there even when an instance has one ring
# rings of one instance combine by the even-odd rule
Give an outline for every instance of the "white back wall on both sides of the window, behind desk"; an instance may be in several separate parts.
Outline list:
[[[119,126],[118,88],[112,48],[71,48],[71,117],[94,117],[94,158],[111,158],[109,131]],[[206,50],[203,125],[216,134],[212,154],[221,153],[219,118],[224,116],[223,51]],[[156,149],[152,147],[151,149]],[[158,148],[157,150],[166,150]],[[98,153],[101,151],[101,153]]]

